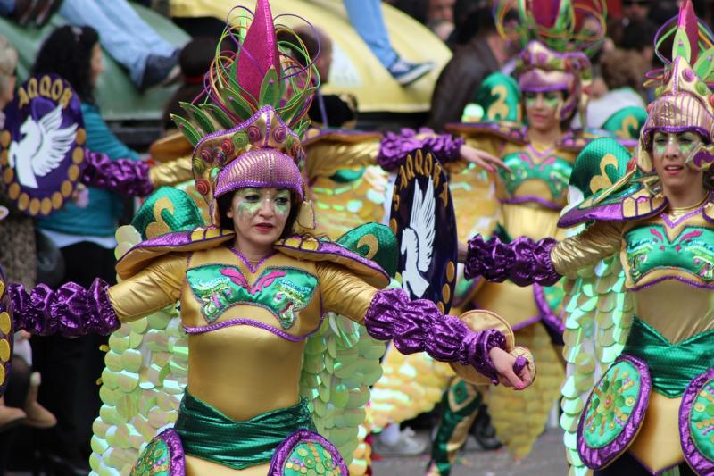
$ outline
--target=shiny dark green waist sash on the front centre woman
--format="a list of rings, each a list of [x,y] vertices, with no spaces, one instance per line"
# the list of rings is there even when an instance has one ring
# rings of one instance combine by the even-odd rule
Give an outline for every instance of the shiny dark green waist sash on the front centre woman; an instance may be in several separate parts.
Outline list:
[[[229,468],[243,470],[270,463],[275,449],[296,430],[315,430],[307,400],[235,422],[186,392],[174,428],[184,452]]]

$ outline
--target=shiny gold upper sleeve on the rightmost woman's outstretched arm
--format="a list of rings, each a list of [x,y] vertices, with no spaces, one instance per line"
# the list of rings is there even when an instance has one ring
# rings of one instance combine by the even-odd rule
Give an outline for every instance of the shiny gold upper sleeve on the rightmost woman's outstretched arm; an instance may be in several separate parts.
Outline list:
[[[574,276],[576,271],[619,252],[622,225],[612,221],[597,221],[575,237],[567,238],[551,250],[555,271]]]

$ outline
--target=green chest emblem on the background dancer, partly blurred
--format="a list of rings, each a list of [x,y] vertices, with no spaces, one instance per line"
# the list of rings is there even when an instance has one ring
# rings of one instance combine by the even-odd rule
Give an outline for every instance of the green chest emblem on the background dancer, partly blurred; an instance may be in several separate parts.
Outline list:
[[[511,169],[499,171],[509,196],[515,196],[518,188],[527,180],[540,180],[550,190],[550,197],[533,197],[540,199],[537,201],[560,201],[566,196],[570,173],[573,171],[573,164],[567,160],[548,152],[537,154],[529,146],[524,152],[506,155],[503,163]]]

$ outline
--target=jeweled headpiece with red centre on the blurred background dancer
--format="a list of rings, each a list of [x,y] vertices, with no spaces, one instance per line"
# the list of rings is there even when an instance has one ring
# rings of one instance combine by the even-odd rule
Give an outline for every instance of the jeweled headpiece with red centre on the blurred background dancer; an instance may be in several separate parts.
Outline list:
[[[583,119],[593,80],[587,54],[605,35],[604,1],[507,0],[496,5],[494,16],[503,38],[521,42],[520,90],[564,91],[560,120],[576,112]]]

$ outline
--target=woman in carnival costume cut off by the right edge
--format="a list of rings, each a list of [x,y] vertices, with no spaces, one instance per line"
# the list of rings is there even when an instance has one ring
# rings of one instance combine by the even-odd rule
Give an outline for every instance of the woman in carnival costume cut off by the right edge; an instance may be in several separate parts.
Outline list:
[[[560,219],[588,228],[560,243],[469,242],[469,276],[519,285],[579,276],[570,291],[565,339],[573,372],[562,388],[561,419],[578,473],[584,465],[595,474],[714,472],[713,38],[690,1],[660,29],[665,64],[649,75],[660,87],[636,156],[613,183],[624,161],[604,148],[593,173],[578,180],[589,193]],[[660,54],[665,41],[671,60]],[[621,279],[603,263],[621,266]],[[608,361],[588,395],[592,374]]]

